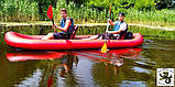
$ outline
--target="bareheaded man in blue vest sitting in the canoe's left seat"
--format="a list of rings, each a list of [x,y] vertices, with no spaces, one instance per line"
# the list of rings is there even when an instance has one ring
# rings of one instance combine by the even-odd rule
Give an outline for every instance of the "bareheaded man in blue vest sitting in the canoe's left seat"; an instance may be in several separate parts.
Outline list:
[[[53,24],[54,28],[61,30],[62,32],[48,33],[42,40],[51,40],[51,39],[70,39],[72,33],[74,31],[74,20],[72,18],[67,18],[66,9],[61,9],[61,26]]]

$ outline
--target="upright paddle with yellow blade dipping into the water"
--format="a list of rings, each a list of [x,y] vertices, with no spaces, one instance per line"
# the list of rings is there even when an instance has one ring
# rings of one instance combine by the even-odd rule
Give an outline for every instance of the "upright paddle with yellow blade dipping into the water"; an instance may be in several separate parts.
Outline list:
[[[111,3],[110,3],[110,9],[109,9],[109,19],[110,19],[110,13],[111,13]],[[107,31],[109,28],[109,22],[107,23],[107,30],[106,30],[106,39],[105,39],[105,44],[101,47],[101,53],[107,53]]]

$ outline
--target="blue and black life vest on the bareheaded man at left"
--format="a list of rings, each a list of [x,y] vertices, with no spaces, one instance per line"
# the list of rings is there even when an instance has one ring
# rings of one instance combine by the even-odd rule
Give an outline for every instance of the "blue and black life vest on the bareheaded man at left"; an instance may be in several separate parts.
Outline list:
[[[66,19],[62,19],[61,20],[61,26],[64,28],[66,20],[70,20],[72,25],[68,28],[68,30],[66,32],[62,31],[62,33],[66,33],[67,35],[72,36],[72,33],[74,31],[74,20],[72,18],[66,18]]]

